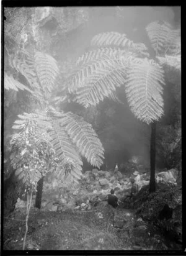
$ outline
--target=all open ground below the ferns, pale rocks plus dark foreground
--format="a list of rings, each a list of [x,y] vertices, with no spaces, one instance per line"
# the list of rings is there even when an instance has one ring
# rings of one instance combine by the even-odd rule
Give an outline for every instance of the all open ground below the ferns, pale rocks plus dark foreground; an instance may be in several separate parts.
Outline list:
[[[107,196],[112,188],[120,200],[130,193],[131,177],[135,178],[139,192],[143,192],[142,188],[148,186],[149,171],[134,163],[129,165],[130,171],[125,173],[121,172],[123,167],[120,168],[121,171],[115,173],[97,169],[86,171],[79,184],[71,183],[70,186],[69,180],[66,180],[66,183],[63,180],[61,183],[58,177],[51,175],[46,177],[40,210],[34,208],[35,196],[33,196],[26,249],[181,249],[180,244],[166,239],[159,228],[145,222],[140,214],[135,214],[133,207],[127,208],[124,204],[120,204],[114,209],[108,205]],[[131,168],[133,168],[132,175]],[[157,171],[156,181],[176,184],[177,170]],[[144,198],[144,194],[141,194]],[[140,194],[137,199],[138,204],[141,204],[139,198]],[[154,206],[154,203],[152,205]],[[26,202],[19,199],[14,213],[4,219],[4,249],[22,249],[25,209]]]

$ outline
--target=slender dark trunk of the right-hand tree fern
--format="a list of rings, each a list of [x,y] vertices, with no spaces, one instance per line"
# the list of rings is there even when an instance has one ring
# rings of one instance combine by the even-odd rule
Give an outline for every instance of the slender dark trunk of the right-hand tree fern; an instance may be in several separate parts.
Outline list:
[[[149,193],[156,191],[155,167],[156,167],[156,122],[153,122],[153,124],[151,124],[151,178],[150,178],[150,184],[149,184]]]

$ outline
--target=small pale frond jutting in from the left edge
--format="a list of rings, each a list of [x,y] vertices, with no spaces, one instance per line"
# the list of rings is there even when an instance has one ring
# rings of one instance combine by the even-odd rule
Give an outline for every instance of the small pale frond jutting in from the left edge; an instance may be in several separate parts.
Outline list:
[[[16,81],[12,76],[8,76],[6,73],[4,74],[4,88],[5,89],[14,89],[15,91],[26,90],[33,94],[33,91],[27,88],[27,86],[22,85],[19,81]]]

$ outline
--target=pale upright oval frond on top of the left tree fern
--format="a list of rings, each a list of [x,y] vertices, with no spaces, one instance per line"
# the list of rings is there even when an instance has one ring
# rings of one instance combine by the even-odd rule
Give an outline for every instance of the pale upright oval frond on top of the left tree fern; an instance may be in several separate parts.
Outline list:
[[[51,93],[60,73],[56,60],[46,53],[37,52],[34,55],[34,66],[43,91]]]

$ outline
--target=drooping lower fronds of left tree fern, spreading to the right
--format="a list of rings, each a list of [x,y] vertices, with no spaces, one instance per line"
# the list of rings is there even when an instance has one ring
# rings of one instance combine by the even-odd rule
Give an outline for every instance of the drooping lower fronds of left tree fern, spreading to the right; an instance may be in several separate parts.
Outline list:
[[[14,122],[13,128],[25,131],[32,124],[35,136],[50,143],[55,150],[55,157],[59,160],[58,168],[64,167],[64,170],[69,170],[71,167],[70,175],[74,181],[81,178],[81,155],[95,167],[99,168],[102,165],[104,148],[91,124],[82,117],[71,112],[48,109],[39,114],[24,113],[19,115],[19,118]]]

